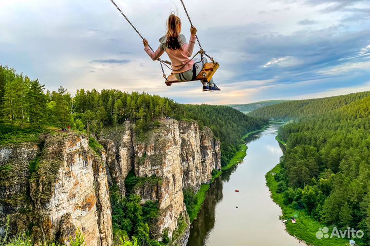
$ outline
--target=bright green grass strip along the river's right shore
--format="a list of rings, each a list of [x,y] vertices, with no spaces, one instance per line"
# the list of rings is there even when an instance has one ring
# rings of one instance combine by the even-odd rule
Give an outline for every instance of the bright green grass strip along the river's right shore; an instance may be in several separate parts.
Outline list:
[[[294,216],[297,218],[297,223],[293,224],[291,222],[286,223],[286,230],[290,235],[297,237],[308,244],[315,246],[343,246],[349,245],[348,240],[339,239],[339,238],[328,238],[328,239],[317,239],[316,232],[319,228],[328,227],[329,234],[332,227],[329,227],[319,221],[313,219],[309,214],[304,210],[298,210],[293,208],[290,205],[285,205],[283,202],[283,195],[276,192],[278,189],[278,182],[274,178],[274,174],[280,173],[281,166],[280,164],[274,167],[271,171],[266,174],[267,186],[271,191],[272,200],[280,206],[283,211],[281,216],[282,220],[289,219]],[[289,220],[288,220],[289,221]]]

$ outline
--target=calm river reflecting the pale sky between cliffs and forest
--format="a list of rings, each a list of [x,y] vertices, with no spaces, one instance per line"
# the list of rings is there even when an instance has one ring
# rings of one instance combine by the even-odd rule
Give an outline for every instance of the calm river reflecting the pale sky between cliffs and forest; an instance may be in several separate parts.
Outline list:
[[[282,211],[266,186],[266,173],[283,155],[275,140],[279,127],[251,136],[244,161],[211,184],[191,225],[188,246],[304,245],[285,231]]]

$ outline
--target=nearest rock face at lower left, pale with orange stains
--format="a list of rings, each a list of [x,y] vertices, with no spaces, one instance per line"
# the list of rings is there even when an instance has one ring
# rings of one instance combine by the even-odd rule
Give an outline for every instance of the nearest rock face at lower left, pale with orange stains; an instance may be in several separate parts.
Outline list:
[[[66,242],[79,229],[87,245],[112,245],[105,151],[99,156],[89,148],[86,137],[74,133],[46,137],[39,153],[36,147],[30,148],[28,154],[17,155],[23,160],[17,161],[17,169],[30,170],[30,159],[39,154],[34,159],[35,170],[22,178],[23,189],[29,189],[29,194],[22,200],[27,208],[17,215],[27,217],[26,222],[35,225],[32,231],[39,239]],[[22,147],[13,147],[12,153],[17,153],[19,148]],[[3,153],[2,163],[9,165],[12,159],[6,156],[11,155],[9,151]],[[17,181],[12,184],[13,187],[17,185]],[[1,195],[15,199],[12,193],[4,190],[7,186],[2,183]],[[5,212],[7,216],[12,211]],[[11,223],[29,226],[17,216],[13,216]]]

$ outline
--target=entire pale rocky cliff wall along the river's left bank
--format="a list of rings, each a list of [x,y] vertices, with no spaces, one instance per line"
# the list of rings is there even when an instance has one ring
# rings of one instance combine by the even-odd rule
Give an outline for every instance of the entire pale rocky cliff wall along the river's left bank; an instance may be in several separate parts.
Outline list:
[[[162,120],[159,127],[137,136],[134,125],[105,129],[89,147],[75,132],[44,135],[40,144],[0,147],[0,236],[30,230],[40,240],[68,242],[80,230],[86,245],[113,244],[109,187],[122,196],[137,194],[156,201],[159,217],[151,233],[163,233],[186,244],[190,221],[183,190],[197,191],[220,168],[220,142],[195,121]],[[130,191],[128,173],[140,182]],[[9,219],[9,223],[7,222]]]

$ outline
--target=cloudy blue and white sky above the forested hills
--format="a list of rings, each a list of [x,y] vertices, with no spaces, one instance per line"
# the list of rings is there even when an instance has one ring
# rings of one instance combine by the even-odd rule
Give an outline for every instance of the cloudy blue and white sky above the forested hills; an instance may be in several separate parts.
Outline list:
[[[189,40],[179,0],[116,3],[153,48],[172,12]],[[48,90],[145,91],[191,104],[370,90],[370,0],[184,3],[202,47],[220,64],[214,75],[220,92],[202,92],[199,81],[166,86],[158,61],[109,0],[0,0],[0,64]]]

